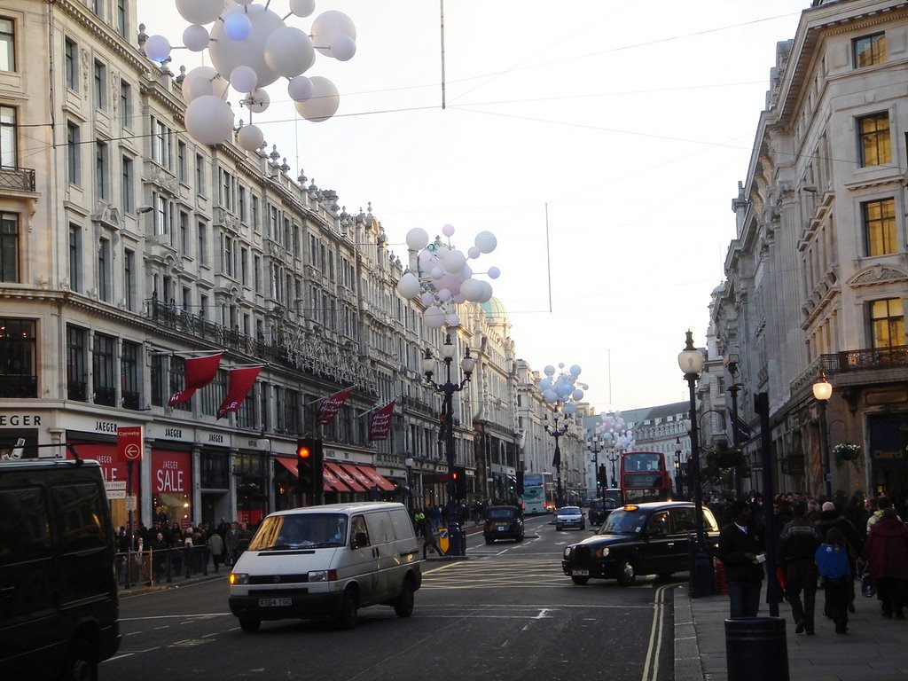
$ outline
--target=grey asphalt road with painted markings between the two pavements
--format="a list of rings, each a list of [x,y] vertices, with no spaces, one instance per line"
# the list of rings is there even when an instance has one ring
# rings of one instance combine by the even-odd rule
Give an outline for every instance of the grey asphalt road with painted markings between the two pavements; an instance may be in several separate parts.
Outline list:
[[[578,587],[561,573],[561,548],[588,530],[556,532],[548,518],[527,529],[521,543],[474,535],[469,560],[424,563],[412,617],[363,608],[351,631],[287,620],[243,633],[225,578],[125,597],[123,644],[101,680],[671,679],[680,578]]]

